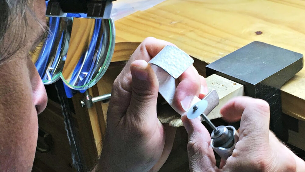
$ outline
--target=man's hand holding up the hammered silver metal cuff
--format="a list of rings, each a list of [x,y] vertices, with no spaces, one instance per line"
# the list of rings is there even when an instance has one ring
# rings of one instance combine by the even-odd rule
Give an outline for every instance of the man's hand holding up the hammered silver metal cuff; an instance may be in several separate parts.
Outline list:
[[[147,62],[167,45],[173,44],[146,38],[115,80],[98,170],[156,171],[166,161],[176,129],[157,119],[159,83]],[[193,66],[178,80],[174,102],[181,111],[194,96],[207,93],[205,79]]]

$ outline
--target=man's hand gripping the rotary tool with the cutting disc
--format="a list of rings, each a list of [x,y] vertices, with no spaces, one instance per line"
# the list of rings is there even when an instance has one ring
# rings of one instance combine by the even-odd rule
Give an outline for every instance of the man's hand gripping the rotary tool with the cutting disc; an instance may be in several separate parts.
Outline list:
[[[250,97],[236,97],[222,109],[228,122],[241,120],[239,141],[232,156],[216,167],[210,134],[198,119],[182,121],[188,132],[188,156],[191,171],[303,171],[305,162],[269,131],[269,105]]]

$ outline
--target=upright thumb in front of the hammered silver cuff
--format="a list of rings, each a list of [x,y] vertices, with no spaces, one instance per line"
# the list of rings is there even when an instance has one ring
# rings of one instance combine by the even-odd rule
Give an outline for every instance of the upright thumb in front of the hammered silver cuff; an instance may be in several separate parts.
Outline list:
[[[159,82],[155,72],[145,60],[135,60],[130,67],[131,101],[127,115],[135,119],[157,119]]]

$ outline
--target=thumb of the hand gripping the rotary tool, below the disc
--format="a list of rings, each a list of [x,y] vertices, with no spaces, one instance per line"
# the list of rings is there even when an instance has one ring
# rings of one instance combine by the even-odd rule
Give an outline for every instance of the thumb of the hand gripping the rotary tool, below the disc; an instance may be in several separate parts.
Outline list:
[[[210,146],[211,137],[199,118],[188,119],[186,115],[181,120],[188,133],[188,163],[190,171],[215,171],[216,159]]]

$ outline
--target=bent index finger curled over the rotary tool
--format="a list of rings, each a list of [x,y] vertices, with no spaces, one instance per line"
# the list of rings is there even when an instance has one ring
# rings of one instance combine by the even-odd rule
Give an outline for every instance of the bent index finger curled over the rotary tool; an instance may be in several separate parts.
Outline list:
[[[251,97],[236,97],[224,105],[220,112],[224,120],[241,119],[240,140],[249,136],[269,143],[270,110],[266,101]]]

